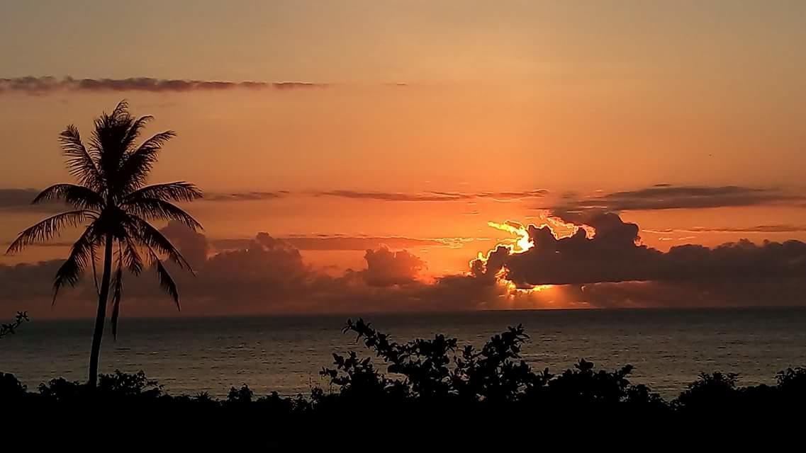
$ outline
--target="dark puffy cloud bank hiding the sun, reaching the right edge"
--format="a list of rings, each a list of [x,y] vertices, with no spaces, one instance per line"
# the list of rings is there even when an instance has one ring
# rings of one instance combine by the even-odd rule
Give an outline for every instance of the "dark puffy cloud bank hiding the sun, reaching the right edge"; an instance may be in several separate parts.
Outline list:
[[[806,302],[806,244],[756,245],[742,240],[709,249],[679,245],[661,252],[640,244],[638,225],[617,214],[586,221],[556,239],[547,227],[530,226],[534,248],[511,253],[498,247],[474,263],[479,277],[505,274],[516,286],[566,285],[571,296],[594,307],[792,305]]]

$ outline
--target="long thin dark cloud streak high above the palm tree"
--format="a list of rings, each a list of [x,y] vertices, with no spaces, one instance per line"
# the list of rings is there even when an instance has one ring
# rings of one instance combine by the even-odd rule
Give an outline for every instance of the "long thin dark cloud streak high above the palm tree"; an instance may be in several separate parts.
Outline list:
[[[222,81],[156,79],[152,77],[129,77],[127,79],[74,79],[67,76],[57,79],[52,76],[25,76],[0,79],[0,93],[48,94],[58,91],[70,92],[151,92],[185,93],[190,91],[224,91],[231,89],[276,89],[280,91],[297,89],[322,89],[329,84],[312,82],[261,82],[261,81]]]

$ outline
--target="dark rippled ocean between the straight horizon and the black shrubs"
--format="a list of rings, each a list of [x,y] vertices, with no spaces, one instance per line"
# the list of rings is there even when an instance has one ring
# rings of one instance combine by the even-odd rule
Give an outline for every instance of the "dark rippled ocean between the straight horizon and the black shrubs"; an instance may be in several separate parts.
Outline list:
[[[102,373],[143,370],[170,393],[225,396],[247,384],[257,394],[327,389],[318,372],[333,352],[370,356],[341,328],[349,315],[122,319],[118,340],[104,338]],[[352,316],[355,318],[355,316]],[[741,385],[774,383],[775,373],[806,366],[806,309],[477,311],[376,314],[364,319],[398,342],[443,333],[484,344],[523,324],[522,356],[553,373],[580,358],[597,367],[633,364],[631,381],[675,397],[701,372],[739,373]],[[93,321],[39,320],[0,340],[0,372],[29,389],[53,377],[85,379]]]

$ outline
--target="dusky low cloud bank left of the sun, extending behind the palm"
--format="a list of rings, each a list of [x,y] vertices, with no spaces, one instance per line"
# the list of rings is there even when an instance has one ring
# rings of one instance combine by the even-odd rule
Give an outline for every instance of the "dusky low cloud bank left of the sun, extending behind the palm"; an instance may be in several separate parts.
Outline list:
[[[202,234],[175,224],[163,232],[196,270],[194,277],[168,263],[180,288],[183,315],[471,310],[495,307],[505,291],[464,276],[423,282],[419,273],[426,263],[421,258],[386,247],[367,250],[364,269],[333,277],[307,265],[288,241],[267,233],[257,234],[239,249],[210,254]],[[52,278],[60,264],[61,260],[52,260],[0,265],[0,300],[39,317],[92,315],[97,296],[89,275],[77,288],[64,291],[51,310]],[[127,275],[124,290],[124,315],[174,313],[152,270],[139,277]]]

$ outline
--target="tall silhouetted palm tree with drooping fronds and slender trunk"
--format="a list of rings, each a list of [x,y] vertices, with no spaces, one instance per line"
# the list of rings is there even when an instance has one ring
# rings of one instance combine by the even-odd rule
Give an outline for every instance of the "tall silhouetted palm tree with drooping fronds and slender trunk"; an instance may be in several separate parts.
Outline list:
[[[135,144],[152,117],[132,117],[126,101],[112,113],[95,120],[89,146],[81,141],[76,126],[67,126],[59,136],[62,154],[71,175],[78,184],[56,184],[48,187],[31,202],[62,200],[73,209],[40,221],[19,234],[6,253],[19,252],[27,245],[48,241],[65,227],[84,226],[84,232],[70,249],[69,257],[56,272],[53,303],[65,286],[75,286],[89,266],[93,270],[98,294],[93,344],[89,353],[89,387],[98,380],[98,356],[106,320],[106,302],[112,291],[112,335],[117,336],[118,315],[123,293],[123,270],[139,275],[143,268],[156,270],[160,286],[179,308],[177,284],[168,274],[161,258],[167,258],[182,269],[190,266],[181,253],[148,220],[177,220],[193,231],[202,229],[192,216],[172,201],[193,201],[202,192],[190,183],[178,181],[145,185],[157,161],[160,149],[173,131],[168,130]],[[95,268],[96,253],[103,249],[101,283]],[[114,266],[114,272],[112,267]]]

